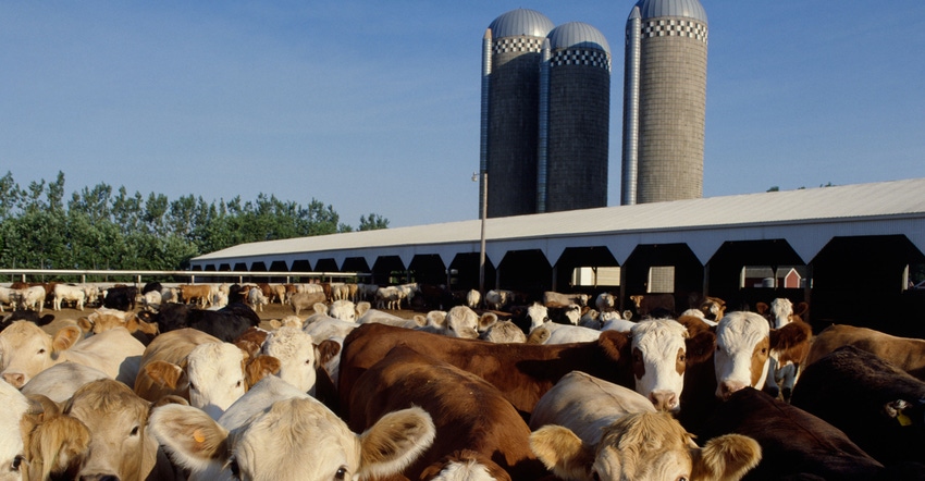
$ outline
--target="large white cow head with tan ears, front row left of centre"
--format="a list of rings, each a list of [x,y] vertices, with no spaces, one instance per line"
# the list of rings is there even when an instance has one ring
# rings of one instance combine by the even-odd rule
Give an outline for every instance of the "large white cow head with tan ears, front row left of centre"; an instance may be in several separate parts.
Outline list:
[[[155,409],[149,425],[197,480],[328,481],[390,477],[433,443],[430,415],[384,416],[362,435],[323,404],[275,377],[264,378],[213,421],[189,406]]]

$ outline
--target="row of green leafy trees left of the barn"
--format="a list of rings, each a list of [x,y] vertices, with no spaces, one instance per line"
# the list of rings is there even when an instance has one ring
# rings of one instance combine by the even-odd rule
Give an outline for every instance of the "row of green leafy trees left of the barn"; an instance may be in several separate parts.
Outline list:
[[[370,213],[356,230],[387,229]],[[25,188],[0,177],[0,267],[7,269],[183,270],[190,258],[238,244],[351,232],[331,205],[259,194],[211,202],[130,195],[106,183],[65,199],[64,173]]]

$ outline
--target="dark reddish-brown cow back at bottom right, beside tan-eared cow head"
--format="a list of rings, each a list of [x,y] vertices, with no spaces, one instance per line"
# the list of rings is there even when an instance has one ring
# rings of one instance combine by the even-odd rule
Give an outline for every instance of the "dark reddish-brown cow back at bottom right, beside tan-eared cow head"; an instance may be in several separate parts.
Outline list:
[[[915,467],[909,467],[912,472],[905,476],[890,472],[841,430],[751,387],[718,404],[696,434],[707,441],[730,433],[747,435],[761,445],[762,460],[745,479],[923,479],[923,471]]]

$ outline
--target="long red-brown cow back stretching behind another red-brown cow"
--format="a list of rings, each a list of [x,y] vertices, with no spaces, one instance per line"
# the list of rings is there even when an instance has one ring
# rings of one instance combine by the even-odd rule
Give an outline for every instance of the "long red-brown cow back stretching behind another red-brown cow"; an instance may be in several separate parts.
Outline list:
[[[590,343],[492,344],[370,323],[344,340],[338,385],[342,408],[349,406],[357,378],[399,344],[480,375],[523,414],[532,411],[540,396],[572,370],[633,385],[630,341],[624,333],[606,332]]]

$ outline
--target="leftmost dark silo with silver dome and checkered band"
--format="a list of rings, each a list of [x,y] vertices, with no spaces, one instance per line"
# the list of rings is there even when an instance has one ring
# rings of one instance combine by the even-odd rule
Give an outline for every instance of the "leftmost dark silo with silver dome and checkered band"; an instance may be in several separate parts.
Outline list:
[[[485,32],[480,169],[489,174],[492,218],[536,212],[540,51],[553,26],[542,13],[518,9]]]

